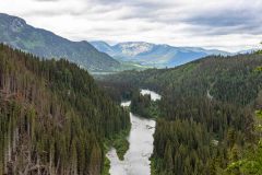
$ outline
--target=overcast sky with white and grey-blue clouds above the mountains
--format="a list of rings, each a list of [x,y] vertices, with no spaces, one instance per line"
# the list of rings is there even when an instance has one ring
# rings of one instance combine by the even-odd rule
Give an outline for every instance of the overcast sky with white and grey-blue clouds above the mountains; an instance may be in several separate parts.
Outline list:
[[[72,40],[229,51],[262,40],[262,0],[0,0],[0,12]]]

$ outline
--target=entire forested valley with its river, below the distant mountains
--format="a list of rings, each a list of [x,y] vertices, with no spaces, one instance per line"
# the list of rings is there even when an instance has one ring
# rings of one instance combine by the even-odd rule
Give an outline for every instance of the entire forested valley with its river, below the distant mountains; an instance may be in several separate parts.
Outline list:
[[[68,60],[0,56],[1,173],[237,175],[259,151],[260,52],[96,80]]]

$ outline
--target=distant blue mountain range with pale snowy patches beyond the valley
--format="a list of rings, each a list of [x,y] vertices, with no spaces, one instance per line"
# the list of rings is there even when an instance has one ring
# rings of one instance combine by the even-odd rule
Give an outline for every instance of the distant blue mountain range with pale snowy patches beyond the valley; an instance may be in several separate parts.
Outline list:
[[[133,61],[150,67],[176,67],[209,55],[229,55],[222,50],[207,50],[199,47],[174,47],[144,42],[120,43],[114,46],[105,42],[91,42],[99,51],[120,61]]]

